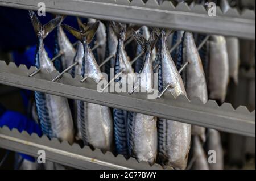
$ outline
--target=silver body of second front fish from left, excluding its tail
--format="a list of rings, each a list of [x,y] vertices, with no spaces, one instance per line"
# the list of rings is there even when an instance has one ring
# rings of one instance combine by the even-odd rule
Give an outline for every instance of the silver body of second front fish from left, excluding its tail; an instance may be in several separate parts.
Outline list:
[[[104,79],[88,43],[84,44],[84,76],[97,83]],[[113,120],[109,107],[78,102],[77,119],[79,132],[84,142],[102,151],[111,151],[113,146]],[[83,106],[81,107],[81,104]],[[81,110],[82,109],[82,110]]]

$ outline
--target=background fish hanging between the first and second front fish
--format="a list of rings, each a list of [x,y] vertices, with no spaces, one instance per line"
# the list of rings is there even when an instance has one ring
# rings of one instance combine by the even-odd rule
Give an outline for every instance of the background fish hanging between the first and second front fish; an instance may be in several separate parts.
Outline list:
[[[60,58],[54,61],[55,68],[58,71],[67,69],[68,66],[73,63],[73,59],[76,54],[75,48],[61,27],[61,23],[63,22],[64,18],[65,17],[62,16],[61,22],[57,25],[55,35],[55,56],[60,52],[63,53]],[[69,73],[71,73],[71,71],[69,71]]]

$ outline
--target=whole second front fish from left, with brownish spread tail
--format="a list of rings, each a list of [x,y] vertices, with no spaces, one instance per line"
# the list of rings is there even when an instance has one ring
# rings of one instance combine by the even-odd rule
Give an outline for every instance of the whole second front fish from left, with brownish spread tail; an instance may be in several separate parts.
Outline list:
[[[89,25],[80,23],[81,31],[66,24],[62,26],[82,42],[84,56],[82,58],[81,76],[93,78],[96,83],[103,80],[104,76],[89,47],[99,22]],[[112,150],[113,121],[108,107],[77,101],[77,123],[85,145],[101,149],[104,152]]]

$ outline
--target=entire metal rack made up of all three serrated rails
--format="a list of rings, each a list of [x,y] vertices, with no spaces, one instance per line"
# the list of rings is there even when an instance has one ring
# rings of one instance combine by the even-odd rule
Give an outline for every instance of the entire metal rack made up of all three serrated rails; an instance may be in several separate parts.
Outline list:
[[[0,0],[0,6],[38,10],[39,2],[42,1]],[[191,8],[179,3],[175,7],[171,2],[158,5],[155,0],[146,3],[141,0],[44,0],[44,3],[47,12],[255,40],[255,12],[250,10],[240,13],[236,9],[229,9],[224,13],[218,7],[217,16],[209,16],[201,5]],[[147,99],[147,95],[142,93],[102,94],[96,90],[96,83],[90,78],[81,83],[80,77],[72,78],[65,73],[59,81],[51,82],[59,73],[54,71],[49,74],[45,70],[32,78],[28,77],[35,70],[34,67],[27,69],[24,65],[17,67],[13,63],[7,65],[0,61],[0,83],[255,137],[255,110],[250,112],[244,106],[234,109],[228,103],[218,106],[213,100],[203,104],[197,98],[189,101],[179,96],[174,99],[168,92],[160,100]],[[255,70],[242,71],[242,74],[255,79]],[[30,136],[16,129],[0,128],[0,147],[33,156],[37,155],[39,149],[44,149],[50,161],[77,169],[162,169],[157,164],[150,167],[148,163],[138,163],[133,158],[126,161],[121,155],[102,154],[100,150],[92,151],[87,146],[81,149],[77,144],[71,146],[65,141],[50,141],[45,136]]]

